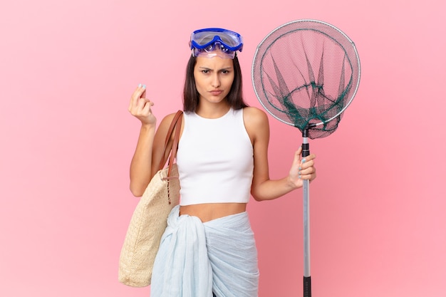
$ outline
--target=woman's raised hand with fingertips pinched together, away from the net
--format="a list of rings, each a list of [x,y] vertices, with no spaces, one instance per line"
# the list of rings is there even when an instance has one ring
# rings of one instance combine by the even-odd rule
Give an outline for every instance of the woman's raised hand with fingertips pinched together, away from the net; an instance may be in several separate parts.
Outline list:
[[[157,119],[152,113],[151,107],[154,103],[145,97],[145,85],[138,85],[135,92],[133,92],[130,98],[130,105],[128,106],[128,111],[138,120],[141,121],[142,125],[156,125]]]

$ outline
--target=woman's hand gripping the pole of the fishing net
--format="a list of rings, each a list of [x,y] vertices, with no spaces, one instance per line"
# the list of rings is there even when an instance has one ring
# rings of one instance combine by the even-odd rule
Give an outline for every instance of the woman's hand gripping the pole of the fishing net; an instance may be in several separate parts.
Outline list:
[[[302,187],[304,179],[311,182],[316,178],[316,167],[314,167],[316,155],[311,154],[301,159],[301,153],[302,147],[299,147],[294,154],[293,165],[289,171],[289,179],[296,187]]]

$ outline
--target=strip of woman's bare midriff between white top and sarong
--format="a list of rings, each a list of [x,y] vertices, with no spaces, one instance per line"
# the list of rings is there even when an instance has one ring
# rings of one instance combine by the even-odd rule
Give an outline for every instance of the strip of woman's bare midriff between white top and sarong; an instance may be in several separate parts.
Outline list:
[[[246,210],[246,203],[206,203],[183,205],[180,207],[180,215],[189,214],[190,216],[198,217],[204,223],[232,214],[239,214]]]

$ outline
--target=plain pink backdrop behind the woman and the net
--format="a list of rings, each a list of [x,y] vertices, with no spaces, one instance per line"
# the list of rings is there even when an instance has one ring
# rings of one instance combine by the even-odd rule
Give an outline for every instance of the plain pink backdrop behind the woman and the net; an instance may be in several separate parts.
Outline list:
[[[175,3],[176,2],[176,3]],[[257,44],[296,19],[341,28],[361,57],[338,130],[311,141],[313,296],[445,296],[445,1],[3,1],[0,5],[0,296],[149,296],[117,280],[138,199],[128,167],[145,83],[160,120],[181,108],[190,32]],[[271,123],[271,177],[299,130]],[[301,296],[301,192],[251,202],[260,297]]]

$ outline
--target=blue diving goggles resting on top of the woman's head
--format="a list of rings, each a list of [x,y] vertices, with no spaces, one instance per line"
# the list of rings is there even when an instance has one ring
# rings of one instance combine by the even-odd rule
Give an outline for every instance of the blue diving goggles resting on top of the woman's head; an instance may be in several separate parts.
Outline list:
[[[222,28],[204,28],[192,32],[190,49],[192,55],[212,58],[234,58],[236,51],[242,51],[243,38],[234,31]]]

